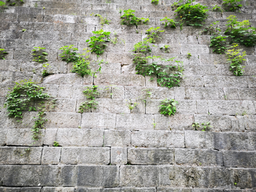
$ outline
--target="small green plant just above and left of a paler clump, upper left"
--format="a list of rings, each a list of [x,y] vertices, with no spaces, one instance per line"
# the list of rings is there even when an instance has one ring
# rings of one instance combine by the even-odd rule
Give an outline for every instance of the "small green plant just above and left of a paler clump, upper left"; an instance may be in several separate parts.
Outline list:
[[[63,50],[63,53],[60,54],[60,58],[67,63],[75,62],[80,58],[80,55],[75,52],[78,51],[78,48],[74,48],[73,45],[63,46],[62,48],[59,48],[59,50]]]

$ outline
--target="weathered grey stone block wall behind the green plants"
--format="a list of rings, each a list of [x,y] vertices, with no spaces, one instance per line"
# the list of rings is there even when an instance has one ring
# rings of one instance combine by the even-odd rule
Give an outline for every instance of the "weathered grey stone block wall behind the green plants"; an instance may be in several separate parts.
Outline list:
[[[164,28],[160,19],[174,18],[175,0],[24,0],[0,13],[0,48],[9,53],[0,60],[0,105],[14,82],[32,79],[46,87],[57,106],[46,112],[48,122],[40,139],[31,146],[31,127],[37,112],[24,112],[23,120],[0,111],[0,192],[126,191],[126,192],[242,192],[256,191],[256,56],[247,52],[245,74],[234,76],[225,55],[209,48],[210,36],[201,28]],[[218,0],[198,3],[220,5]],[[256,27],[256,1],[244,0],[241,13],[212,12],[206,25],[230,15],[249,19]],[[149,25],[121,26],[119,10],[136,10]],[[1,10],[1,9],[0,9]],[[101,14],[111,20],[100,25]],[[165,30],[151,55],[183,61],[180,87],[158,87],[156,78],[136,75],[131,52],[151,27]],[[117,44],[108,47],[97,78],[70,73],[72,63],[61,60],[62,46],[74,45],[82,53],[92,31],[117,33]],[[26,31],[22,31],[26,29]],[[139,31],[139,33],[137,33]],[[170,53],[159,48],[169,45]],[[42,80],[41,63],[31,50],[46,48],[50,75]],[[191,58],[187,58],[187,53]],[[93,63],[93,62],[92,62]],[[97,69],[97,64],[92,64]],[[78,113],[82,90],[98,85],[99,105]],[[150,90],[144,102],[141,95]],[[178,101],[174,116],[159,113],[161,100]],[[129,110],[127,102],[139,103]],[[196,131],[193,122],[210,122],[207,132]],[[155,124],[155,125],[154,125]],[[57,141],[60,146],[54,147]]]

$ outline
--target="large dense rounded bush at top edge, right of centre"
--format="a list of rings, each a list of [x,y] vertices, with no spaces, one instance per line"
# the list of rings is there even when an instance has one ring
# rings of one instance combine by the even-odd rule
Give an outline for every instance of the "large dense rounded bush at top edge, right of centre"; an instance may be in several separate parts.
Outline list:
[[[192,3],[194,1],[188,0],[186,3],[181,4],[183,0],[179,1],[176,4],[173,4],[175,12],[176,12],[176,18],[180,18],[181,21],[186,22],[187,26],[203,26],[202,22],[207,18],[207,6],[203,6],[201,4],[195,4]]]

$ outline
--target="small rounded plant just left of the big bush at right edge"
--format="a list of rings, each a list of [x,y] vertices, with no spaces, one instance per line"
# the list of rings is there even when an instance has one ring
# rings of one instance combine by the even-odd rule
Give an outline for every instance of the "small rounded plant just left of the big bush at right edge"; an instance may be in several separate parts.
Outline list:
[[[210,48],[213,48],[213,53],[223,54],[227,49],[226,45],[227,36],[211,36],[210,37]]]

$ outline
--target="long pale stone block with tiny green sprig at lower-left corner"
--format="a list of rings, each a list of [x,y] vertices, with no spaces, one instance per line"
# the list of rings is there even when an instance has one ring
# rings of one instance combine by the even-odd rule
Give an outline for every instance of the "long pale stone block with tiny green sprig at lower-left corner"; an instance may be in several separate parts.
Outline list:
[[[103,130],[58,129],[56,141],[60,146],[102,146]]]

